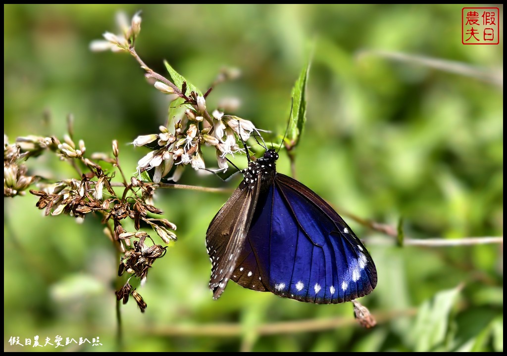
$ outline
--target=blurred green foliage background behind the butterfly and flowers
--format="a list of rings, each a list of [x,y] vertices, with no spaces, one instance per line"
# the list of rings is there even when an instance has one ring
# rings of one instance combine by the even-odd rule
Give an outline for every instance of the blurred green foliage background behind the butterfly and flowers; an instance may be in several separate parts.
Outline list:
[[[206,91],[222,66],[241,69],[239,80],[213,90],[208,109],[239,98],[231,113],[276,133],[285,129],[291,88],[313,44],[298,180],[339,212],[393,226],[403,216],[411,238],[502,236],[503,8],[497,46],[461,44],[461,8],[4,5],[4,133],[10,142],[61,138],[72,113],[88,152],[108,152],[117,139],[124,170],[134,172],[147,150],[128,143],[158,132],[168,103],[131,56],[89,51],[104,31],[117,32],[118,10],[142,10],[136,50],[162,74],[166,59]],[[477,75],[372,51],[455,61]],[[73,172],[50,155],[29,166],[45,176]],[[278,171],[289,174],[285,154]],[[233,188],[240,179],[224,183],[188,169],[180,183]],[[227,199],[158,192],[178,241],[138,289],[146,313],[133,301],[122,306],[127,350],[503,350],[503,245],[399,248],[350,218],[378,269],[377,288],[360,299],[378,318],[375,328],[353,321],[351,303],[311,305],[234,283],[212,300],[204,236]],[[115,350],[118,263],[99,218],[77,225],[68,216],[43,217],[36,202],[30,194],[4,199],[4,349],[29,348],[10,345],[12,336],[53,342],[61,335],[99,337],[103,345],[38,350]],[[336,326],[326,328],[329,320]],[[266,334],[266,325],[279,323],[294,330]]]

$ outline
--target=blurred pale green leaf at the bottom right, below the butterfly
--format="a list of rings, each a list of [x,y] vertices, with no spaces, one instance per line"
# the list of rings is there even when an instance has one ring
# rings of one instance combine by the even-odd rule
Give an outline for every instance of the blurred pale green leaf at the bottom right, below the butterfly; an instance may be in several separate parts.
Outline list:
[[[449,319],[461,289],[439,292],[420,306],[411,333],[416,338],[414,351],[447,351]]]

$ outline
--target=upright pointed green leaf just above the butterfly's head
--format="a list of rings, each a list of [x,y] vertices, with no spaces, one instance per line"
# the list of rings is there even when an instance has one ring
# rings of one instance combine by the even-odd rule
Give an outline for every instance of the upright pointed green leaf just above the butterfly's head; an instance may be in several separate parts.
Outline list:
[[[310,61],[301,71],[298,80],[292,88],[293,106],[287,132],[285,145],[287,149],[296,147],[306,122],[306,82],[310,71]]]

